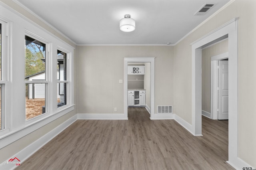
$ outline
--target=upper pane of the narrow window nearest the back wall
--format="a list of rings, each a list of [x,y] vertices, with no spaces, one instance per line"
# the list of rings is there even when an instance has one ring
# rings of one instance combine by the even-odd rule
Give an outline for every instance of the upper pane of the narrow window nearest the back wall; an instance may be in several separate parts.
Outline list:
[[[66,75],[67,75],[67,54],[58,50],[57,52],[57,77],[58,80],[60,81],[65,81],[67,80]]]

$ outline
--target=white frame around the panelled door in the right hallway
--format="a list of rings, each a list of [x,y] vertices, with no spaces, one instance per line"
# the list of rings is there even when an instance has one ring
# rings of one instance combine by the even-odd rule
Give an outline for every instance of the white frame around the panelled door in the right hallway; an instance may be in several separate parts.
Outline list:
[[[228,58],[228,52],[211,57],[211,119],[218,120],[218,61]]]

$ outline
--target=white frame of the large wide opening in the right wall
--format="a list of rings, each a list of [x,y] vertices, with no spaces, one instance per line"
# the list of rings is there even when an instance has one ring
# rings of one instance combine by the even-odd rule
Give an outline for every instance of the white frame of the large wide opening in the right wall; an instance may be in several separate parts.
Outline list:
[[[200,38],[192,45],[192,132],[195,136],[202,135],[202,45],[228,34],[229,61],[229,101],[228,110],[228,163],[241,167],[238,158],[238,40],[237,18]]]

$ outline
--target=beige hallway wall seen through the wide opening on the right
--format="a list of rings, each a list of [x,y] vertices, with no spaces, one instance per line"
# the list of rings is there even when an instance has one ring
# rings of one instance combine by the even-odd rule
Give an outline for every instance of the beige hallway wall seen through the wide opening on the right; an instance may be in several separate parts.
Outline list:
[[[228,52],[228,40],[202,49],[202,110],[211,112],[211,57]]]

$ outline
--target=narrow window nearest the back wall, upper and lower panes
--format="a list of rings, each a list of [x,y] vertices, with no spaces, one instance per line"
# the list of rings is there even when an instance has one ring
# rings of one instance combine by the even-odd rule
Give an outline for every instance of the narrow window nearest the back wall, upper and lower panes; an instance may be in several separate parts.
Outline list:
[[[57,50],[57,107],[67,105],[67,54]]]

